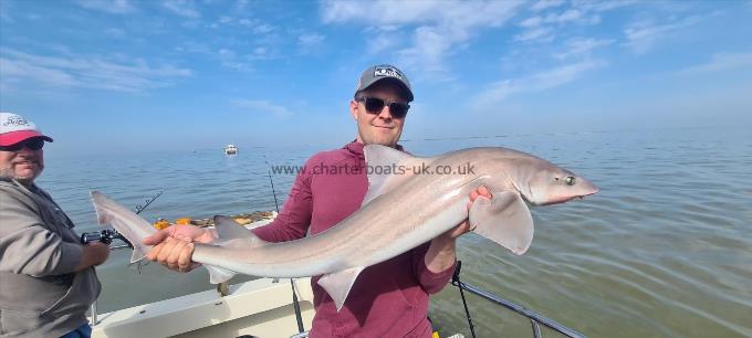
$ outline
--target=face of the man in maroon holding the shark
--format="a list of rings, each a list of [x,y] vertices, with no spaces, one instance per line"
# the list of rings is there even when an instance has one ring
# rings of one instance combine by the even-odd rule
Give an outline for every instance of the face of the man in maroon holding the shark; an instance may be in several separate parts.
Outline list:
[[[407,104],[399,87],[386,81],[372,85],[363,91],[359,96],[377,97],[386,103]],[[391,116],[388,105],[385,105],[380,112],[375,113],[366,110],[363,102],[353,99],[349,103],[349,113],[357,122],[357,141],[366,145],[388,147],[397,145],[399,136],[403,134],[405,117],[395,118]]]

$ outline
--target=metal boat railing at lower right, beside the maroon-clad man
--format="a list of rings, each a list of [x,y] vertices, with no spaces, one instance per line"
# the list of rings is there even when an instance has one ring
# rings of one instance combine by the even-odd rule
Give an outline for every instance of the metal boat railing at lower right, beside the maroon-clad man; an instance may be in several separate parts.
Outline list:
[[[460,295],[462,297],[462,305],[464,306],[464,313],[468,317],[468,325],[470,326],[470,332],[472,334],[472,337],[476,337],[476,327],[474,324],[472,324],[472,318],[470,317],[470,310],[468,309],[468,303],[464,299],[464,292],[469,292],[476,296],[479,296],[483,299],[487,299],[491,302],[492,304],[502,306],[506,309],[510,309],[516,314],[520,314],[528,319],[530,319],[531,326],[532,326],[532,331],[533,331],[533,337],[535,338],[541,338],[541,325],[557,331],[566,337],[572,337],[572,338],[586,338],[587,336],[568,328],[553,319],[550,319],[536,311],[533,311],[531,309],[525,308],[524,306],[514,304],[512,302],[509,302],[498,295],[494,295],[488,291],[484,291],[478,286],[464,283],[460,281],[460,272],[462,268],[462,262],[458,261],[457,262],[457,268],[455,270],[455,275],[452,276],[451,284],[457,286],[460,291]]]

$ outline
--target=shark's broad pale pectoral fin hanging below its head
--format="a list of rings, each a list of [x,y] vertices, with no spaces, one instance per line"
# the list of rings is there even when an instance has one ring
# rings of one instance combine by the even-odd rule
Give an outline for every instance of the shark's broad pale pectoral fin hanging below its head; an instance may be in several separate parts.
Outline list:
[[[490,200],[478,197],[470,208],[470,226],[518,255],[533,241],[533,216],[520,194],[512,191],[494,192]]]

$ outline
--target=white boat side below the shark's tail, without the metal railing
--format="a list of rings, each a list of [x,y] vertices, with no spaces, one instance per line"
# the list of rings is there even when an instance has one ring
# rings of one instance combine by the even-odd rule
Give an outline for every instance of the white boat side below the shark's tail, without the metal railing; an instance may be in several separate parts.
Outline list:
[[[221,285],[221,284],[220,284]],[[291,296],[297,295],[303,327],[313,319],[309,278],[259,278],[90,317],[94,338],[292,337],[299,334]]]

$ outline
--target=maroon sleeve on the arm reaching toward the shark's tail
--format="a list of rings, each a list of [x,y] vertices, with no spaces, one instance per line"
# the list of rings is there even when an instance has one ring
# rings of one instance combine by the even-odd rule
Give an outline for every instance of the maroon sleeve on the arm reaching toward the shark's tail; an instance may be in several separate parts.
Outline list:
[[[311,225],[313,213],[311,179],[309,170],[301,170],[295,177],[295,182],[280,214],[273,222],[253,229],[253,234],[267,242],[286,242],[304,237]]]

